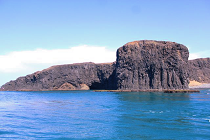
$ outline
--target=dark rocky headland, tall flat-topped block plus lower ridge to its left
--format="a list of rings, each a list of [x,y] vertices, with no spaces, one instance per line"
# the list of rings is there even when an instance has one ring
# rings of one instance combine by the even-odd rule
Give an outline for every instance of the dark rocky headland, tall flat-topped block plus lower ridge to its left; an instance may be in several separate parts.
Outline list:
[[[1,90],[188,89],[184,45],[141,40],[117,50],[116,62],[53,66],[10,81]]]

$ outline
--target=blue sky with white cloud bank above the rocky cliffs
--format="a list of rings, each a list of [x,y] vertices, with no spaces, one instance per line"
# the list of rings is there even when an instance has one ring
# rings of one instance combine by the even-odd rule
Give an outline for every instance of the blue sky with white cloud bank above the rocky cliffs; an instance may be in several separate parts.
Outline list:
[[[142,39],[210,57],[209,25],[209,0],[0,0],[0,86],[52,65],[112,62]]]

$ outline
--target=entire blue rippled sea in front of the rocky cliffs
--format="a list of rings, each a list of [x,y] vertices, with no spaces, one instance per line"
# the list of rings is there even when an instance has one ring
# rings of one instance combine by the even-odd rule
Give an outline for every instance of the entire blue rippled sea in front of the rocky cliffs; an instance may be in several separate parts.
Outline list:
[[[0,139],[210,139],[210,90],[1,91]]]

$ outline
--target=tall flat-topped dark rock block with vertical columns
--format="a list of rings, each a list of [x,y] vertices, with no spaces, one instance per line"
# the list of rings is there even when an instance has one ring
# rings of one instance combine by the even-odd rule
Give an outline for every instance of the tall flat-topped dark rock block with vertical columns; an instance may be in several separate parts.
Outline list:
[[[118,89],[186,89],[189,52],[165,41],[135,41],[117,50]]]

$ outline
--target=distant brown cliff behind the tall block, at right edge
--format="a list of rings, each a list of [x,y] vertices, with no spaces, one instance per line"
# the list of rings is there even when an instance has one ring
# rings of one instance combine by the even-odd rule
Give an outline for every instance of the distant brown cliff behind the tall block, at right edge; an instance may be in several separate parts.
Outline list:
[[[200,83],[210,83],[210,58],[189,60],[189,79]]]

